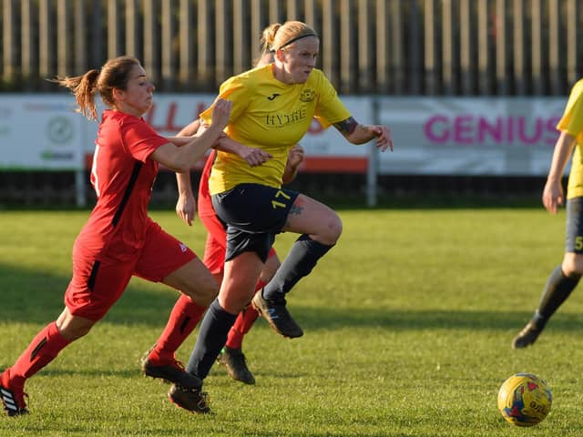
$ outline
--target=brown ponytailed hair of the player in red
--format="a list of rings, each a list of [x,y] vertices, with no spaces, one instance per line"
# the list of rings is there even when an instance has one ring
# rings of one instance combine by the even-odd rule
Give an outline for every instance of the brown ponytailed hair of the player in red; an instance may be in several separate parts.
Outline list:
[[[109,59],[101,70],[91,69],[85,75],[74,77],[56,77],[53,82],[71,89],[77,101],[77,111],[89,120],[97,119],[95,93],[109,107],[115,107],[114,88],[126,89],[129,72],[139,66],[138,59],[132,56],[118,56]]]

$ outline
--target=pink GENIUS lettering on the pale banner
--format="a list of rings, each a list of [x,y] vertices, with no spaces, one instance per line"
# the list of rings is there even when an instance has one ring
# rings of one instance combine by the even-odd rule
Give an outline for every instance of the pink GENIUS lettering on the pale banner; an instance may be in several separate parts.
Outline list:
[[[424,123],[424,135],[430,143],[457,146],[491,143],[499,146],[536,146],[541,143],[554,145],[558,137],[558,120],[559,117],[529,119],[524,116],[508,116],[492,119],[467,115],[436,115]]]

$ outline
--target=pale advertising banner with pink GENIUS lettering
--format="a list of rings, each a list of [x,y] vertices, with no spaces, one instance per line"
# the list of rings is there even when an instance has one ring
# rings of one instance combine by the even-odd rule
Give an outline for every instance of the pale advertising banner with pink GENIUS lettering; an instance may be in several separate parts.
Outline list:
[[[381,97],[394,152],[380,172],[546,176],[565,97]]]

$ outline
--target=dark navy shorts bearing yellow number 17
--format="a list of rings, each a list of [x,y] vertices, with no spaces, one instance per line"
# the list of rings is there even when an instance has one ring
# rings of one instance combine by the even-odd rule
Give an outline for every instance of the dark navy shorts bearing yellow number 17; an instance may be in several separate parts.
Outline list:
[[[265,262],[299,193],[260,184],[240,184],[212,196],[217,216],[227,223],[225,261],[255,252]]]

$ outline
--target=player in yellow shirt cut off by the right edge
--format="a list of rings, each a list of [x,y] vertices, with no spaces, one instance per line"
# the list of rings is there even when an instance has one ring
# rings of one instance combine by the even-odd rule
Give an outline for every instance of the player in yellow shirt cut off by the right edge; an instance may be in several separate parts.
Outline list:
[[[526,348],[537,340],[547,321],[577,287],[583,274],[583,79],[573,86],[557,129],[560,135],[543,190],[543,205],[548,212],[557,214],[557,207],[563,204],[561,180],[568,158],[575,149],[568,177],[565,255],[562,263],[550,274],[532,319],[512,340],[514,349]]]

